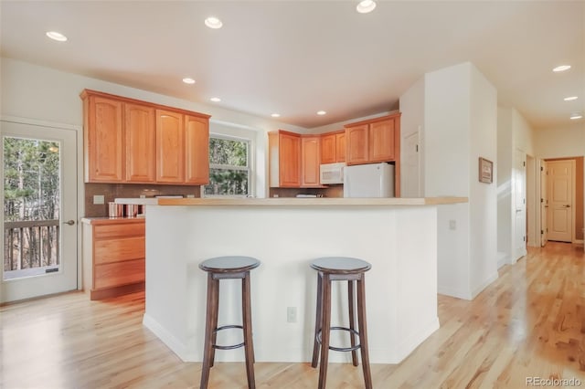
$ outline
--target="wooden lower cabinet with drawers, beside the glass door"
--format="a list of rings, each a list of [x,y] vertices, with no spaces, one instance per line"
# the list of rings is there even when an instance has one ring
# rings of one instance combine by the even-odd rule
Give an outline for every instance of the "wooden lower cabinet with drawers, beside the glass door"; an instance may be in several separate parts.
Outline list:
[[[144,290],[144,219],[83,219],[83,289],[90,300]]]

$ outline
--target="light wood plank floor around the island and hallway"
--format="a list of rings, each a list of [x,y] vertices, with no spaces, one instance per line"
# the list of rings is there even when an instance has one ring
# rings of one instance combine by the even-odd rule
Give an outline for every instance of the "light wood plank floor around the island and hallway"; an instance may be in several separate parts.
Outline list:
[[[198,387],[201,364],[182,363],[144,329],[143,311],[144,294],[90,301],[80,292],[0,307],[0,387]],[[475,300],[439,296],[439,317],[441,329],[405,361],[372,365],[376,388],[523,388],[527,377],[585,387],[582,247],[529,249]],[[255,372],[259,388],[317,384],[309,363],[256,363]],[[359,367],[329,365],[327,387],[362,383]],[[211,388],[245,386],[243,363],[211,371]]]

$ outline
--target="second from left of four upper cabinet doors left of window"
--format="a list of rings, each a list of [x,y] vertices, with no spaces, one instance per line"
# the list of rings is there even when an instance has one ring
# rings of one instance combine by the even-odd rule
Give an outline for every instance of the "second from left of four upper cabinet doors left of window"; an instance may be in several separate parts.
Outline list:
[[[127,182],[154,183],[156,181],[154,122],[153,107],[124,103]]]

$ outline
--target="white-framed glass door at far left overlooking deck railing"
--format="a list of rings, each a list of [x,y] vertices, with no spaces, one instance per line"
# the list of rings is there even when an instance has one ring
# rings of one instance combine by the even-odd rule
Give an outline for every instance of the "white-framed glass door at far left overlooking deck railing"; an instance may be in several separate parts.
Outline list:
[[[0,302],[77,289],[77,132],[0,121]]]

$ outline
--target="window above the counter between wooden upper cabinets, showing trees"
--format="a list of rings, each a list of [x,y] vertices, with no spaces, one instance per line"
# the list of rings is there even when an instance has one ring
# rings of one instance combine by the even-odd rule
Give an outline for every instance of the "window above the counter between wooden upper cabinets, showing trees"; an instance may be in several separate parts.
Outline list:
[[[228,136],[209,137],[209,184],[204,196],[251,195],[250,141]]]

